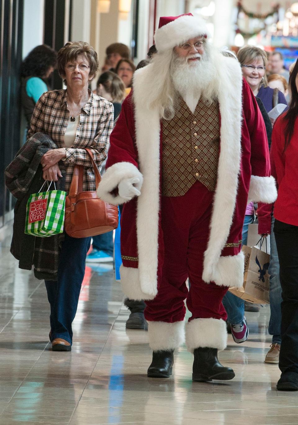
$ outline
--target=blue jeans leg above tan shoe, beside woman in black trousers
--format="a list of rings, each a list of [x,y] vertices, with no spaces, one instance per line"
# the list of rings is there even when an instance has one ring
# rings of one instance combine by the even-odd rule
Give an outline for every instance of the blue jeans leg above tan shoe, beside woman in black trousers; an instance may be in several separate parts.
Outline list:
[[[268,331],[272,335],[272,344],[281,343],[281,281],[279,279],[279,261],[273,232],[274,217],[272,217],[270,233],[270,264],[268,273],[270,275],[269,299],[270,320]]]

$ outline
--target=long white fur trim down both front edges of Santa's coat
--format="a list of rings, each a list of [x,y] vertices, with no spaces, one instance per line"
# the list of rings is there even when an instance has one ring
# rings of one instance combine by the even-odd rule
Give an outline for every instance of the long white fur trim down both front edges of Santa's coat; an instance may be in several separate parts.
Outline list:
[[[241,160],[241,68],[235,59],[215,51],[212,54],[215,55],[218,67],[214,84],[221,113],[221,153],[209,242],[204,258],[205,276],[211,276],[216,266],[220,267],[221,251],[226,244],[235,209]],[[137,204],[140,285],[143,290],[149,288],[147,293],[152,295],[157,288],[158,267],[160,118],[158,108],[148,110],[143,102],[150,72],[150,65],[139,69],[134,75],[133,87],[136,145],[139,169],[143,175],[143,187]]]

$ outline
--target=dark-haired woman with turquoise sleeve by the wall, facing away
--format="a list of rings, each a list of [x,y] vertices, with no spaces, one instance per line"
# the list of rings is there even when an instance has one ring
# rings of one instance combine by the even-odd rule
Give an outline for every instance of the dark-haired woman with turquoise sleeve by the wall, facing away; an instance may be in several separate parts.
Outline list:
[[[28,127],[37,100],[49,90],[46,79],[56,68],[56,63],[57,53],[51,47],[42,44],[34,47],[21,64],[21,102]]]

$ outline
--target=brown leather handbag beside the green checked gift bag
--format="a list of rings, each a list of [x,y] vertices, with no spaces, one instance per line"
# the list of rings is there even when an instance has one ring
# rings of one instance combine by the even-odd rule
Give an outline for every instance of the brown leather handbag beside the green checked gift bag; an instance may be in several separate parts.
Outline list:
[[[101,180],[100,173],[93,159],[92,151],[86,149],[90,156],[96,187]],[[83,192],[84,167],[76,165],[65,200],[64,229],[72,238],[87,238],[116,229],[118,226],[118,207],[106,204],[95,192]]]

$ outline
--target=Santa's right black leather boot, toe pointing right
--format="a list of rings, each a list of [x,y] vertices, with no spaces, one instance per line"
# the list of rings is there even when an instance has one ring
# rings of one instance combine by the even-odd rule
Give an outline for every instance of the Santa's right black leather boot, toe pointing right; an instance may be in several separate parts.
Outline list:
[[[235,377],[233,369],[219,363],[217,351],[217,348],[195,348],[192,366],[193,381],[212,381],[212,379],[228,381]]]

